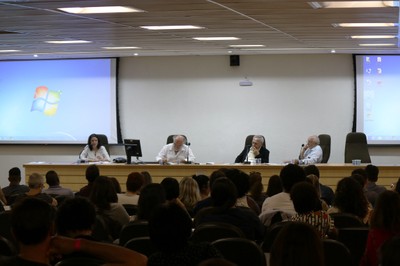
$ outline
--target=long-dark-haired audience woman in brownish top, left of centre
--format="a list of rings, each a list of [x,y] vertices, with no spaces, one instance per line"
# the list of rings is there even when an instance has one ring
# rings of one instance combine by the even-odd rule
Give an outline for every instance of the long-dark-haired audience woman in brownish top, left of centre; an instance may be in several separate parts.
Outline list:
[[[93,182],[90,201],[96,206],[96,213],[105,220],[113,238],[117,239],[122,226],[129,222],[129,215],[118,203],[117,193],[107,176],[99,176]]]

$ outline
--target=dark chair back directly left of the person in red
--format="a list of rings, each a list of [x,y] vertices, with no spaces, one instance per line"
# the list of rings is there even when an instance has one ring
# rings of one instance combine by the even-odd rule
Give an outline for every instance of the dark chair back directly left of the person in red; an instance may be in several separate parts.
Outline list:
[[[350,251],[352,265],[360,265],[368,238],[368,227],[339,228],[338,240]]]

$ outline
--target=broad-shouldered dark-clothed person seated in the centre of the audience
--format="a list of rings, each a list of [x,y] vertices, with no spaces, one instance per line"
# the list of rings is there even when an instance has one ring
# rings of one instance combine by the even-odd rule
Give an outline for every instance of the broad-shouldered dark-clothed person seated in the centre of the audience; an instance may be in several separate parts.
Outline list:
[[[249,208],[235,207],[237,189],[231,180],[218,178],[211,189],[213,207],[204,208],[195,216],[195,226],[206,222],[223,222],[240,228],[250,240],[261,240],[264,226]]]

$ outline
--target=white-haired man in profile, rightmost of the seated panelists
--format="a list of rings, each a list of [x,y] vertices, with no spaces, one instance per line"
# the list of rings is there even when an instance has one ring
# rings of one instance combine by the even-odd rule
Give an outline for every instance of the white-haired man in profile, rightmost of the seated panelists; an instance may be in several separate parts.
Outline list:
[[[307,144],[302,146],[299,159],[295,159],[296,164],[316,164],[322,161],[322,149],[319,146],[319,138],[316,135],[307,139]]]

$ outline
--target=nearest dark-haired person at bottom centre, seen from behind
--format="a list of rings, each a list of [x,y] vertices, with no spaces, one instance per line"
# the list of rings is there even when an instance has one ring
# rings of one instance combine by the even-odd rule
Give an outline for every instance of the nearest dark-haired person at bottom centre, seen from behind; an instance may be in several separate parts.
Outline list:
[[[180,206],[169,203],[157,208],[149,220],[150,239],[159,250],[149,257],[149,266],[198,265],[221,257],[209,243],[192,244],[192,219]]]

